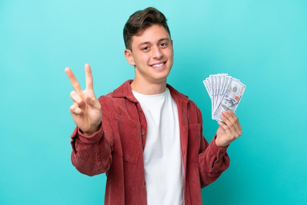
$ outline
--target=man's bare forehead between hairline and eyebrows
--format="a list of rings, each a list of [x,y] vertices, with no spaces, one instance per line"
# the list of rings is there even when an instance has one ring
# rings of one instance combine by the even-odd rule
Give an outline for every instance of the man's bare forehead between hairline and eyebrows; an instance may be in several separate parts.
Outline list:
[[[155,44],[161,39],[167,39],[171,41],[169,33],[163,26],[153,25],[143,30],[140,34],[132,36],[131,46],[135,47],[143,43]]]

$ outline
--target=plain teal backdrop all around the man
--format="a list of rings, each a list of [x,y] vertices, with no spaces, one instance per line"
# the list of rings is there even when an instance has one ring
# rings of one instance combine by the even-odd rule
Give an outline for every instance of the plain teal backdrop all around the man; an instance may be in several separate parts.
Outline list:
[[[153,6],[168,19],[168,83],[195,101],[210,141],[218,127],[203,85],[228,73],[247,88],[230,168],[202,189],[205,205],[307,204],[306,0],[0,0],[0,205],[102,205],[106,177],[70,160],[71,67],[97,96],[134,77],[123,26]]]

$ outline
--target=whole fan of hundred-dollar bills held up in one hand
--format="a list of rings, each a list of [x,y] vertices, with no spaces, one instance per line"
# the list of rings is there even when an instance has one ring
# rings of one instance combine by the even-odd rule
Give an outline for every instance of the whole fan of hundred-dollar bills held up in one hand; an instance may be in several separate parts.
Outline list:
[[[224,111],[235,112],[246,87],[239,79],[228,74],[216,74],[203,82],[211,99],[213,120],[222,121],[220,114]]]

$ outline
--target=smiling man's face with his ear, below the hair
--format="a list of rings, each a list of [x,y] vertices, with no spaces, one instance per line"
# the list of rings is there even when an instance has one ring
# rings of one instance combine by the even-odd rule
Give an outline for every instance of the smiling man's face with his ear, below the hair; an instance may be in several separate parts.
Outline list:
[[[163,26],[153,25],[141,35],[132,37],[132,51],[125,56],[135,66],[135,81],[139,83],[166,83],[174,62],[173,41]]]

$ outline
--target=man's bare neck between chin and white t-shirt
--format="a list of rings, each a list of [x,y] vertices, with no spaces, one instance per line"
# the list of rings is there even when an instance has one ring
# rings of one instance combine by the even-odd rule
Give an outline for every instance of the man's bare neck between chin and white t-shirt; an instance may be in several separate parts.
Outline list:
[[[144,94],[144,95],[157,95],[164,93],[166,90],[166,80],[161,83],[149,83],[149,82],[140,82],[138,80],[133,80],[130,84],[131,89],[135,92]]]

